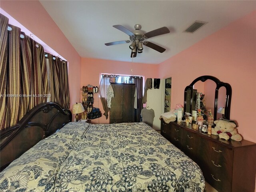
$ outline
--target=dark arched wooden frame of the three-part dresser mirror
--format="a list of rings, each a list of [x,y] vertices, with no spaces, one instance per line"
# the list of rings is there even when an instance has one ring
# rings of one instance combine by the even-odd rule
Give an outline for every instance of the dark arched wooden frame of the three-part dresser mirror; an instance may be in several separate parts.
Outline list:
[[[216,120],[217,117],[217,111],[218,111],[218,92],[219,89],[223,86],[226,88],[226,99],[225,99],[225,114],[224,117],[226,119],[230,119],[230,104],[231,104],[231,95],[232,95],[232,89],[230,84],[228,83],[224,83],[222,81],[220,81],[218,78],[214,77],[214,76],[200,76],[198,78],[196,78],[189,86],[186,86],[185,90],[184,90],[184,117],[185,117],[185,112],[186,112],[186,106],[187,106],[187,92],[188,90],[190,90],[190,93],[192,93],[193,91],[193,86],[196,82],[198,81],[202,81],[205,82],[206,80],[212,80],[216,83],[216,88],[215,88],[215,99],[214,99],[214,120]],[[192,94],[190,94],[190,109],[189,112],[192,114]]]

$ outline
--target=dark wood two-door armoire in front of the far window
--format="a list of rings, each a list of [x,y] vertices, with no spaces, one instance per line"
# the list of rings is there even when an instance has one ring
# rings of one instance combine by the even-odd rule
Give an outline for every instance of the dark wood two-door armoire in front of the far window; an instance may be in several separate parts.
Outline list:
[[[135,84],[111,83],[114,90],[110,108],[110,123],[134,122]]]

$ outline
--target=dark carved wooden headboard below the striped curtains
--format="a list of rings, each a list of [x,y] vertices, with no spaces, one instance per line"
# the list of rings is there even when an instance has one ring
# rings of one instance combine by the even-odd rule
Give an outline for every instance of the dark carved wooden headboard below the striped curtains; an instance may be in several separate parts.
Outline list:
[[[72,113],[53,102],[32,108],[16,124],[0,130],[0,171],[40,140],[72,121]]]

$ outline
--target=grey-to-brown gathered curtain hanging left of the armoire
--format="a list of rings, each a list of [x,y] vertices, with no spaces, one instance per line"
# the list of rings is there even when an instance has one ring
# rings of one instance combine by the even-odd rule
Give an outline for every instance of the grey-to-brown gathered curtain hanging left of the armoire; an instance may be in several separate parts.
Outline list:
[[[109,82],[110,75],[102,75],[102,78],[100,80],[100,86],[99,86],[99,95],[100,100],[102,102],[103,110],[104,110],[104,116],[106,116],[106,119],[108,119],[108,112],[109,108],[107,105],[107,90],[108,86],[110,85]]]

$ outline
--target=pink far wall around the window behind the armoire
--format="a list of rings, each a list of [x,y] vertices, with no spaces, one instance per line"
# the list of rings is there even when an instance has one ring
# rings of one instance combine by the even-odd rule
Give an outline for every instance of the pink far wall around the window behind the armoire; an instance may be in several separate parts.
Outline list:
[[[144,76],[145,79],[158,78],[159,76],[158,65],[82,58],[80,87],[82,88],[82,86],[86,86],[88,84],[99,86],[100,73]],[[98,96],[98,94],[96,95]],[[104,110],[100,99],[94,96],[94,100],[95,102],[93,106],[100,108],[103,114]],[[109,123],[109,118],[106,120],[105,116],[102,115],[101,118],[95,119],[93,122]]]

